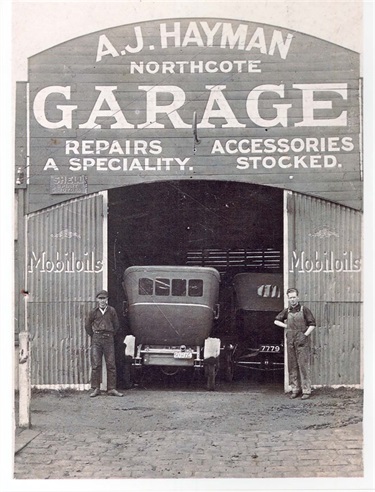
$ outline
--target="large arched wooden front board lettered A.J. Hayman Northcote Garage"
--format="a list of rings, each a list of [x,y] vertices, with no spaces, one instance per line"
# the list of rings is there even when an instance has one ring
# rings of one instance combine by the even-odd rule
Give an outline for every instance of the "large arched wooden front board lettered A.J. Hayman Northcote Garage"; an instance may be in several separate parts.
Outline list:
[[[28,100],[31,210],[77,192],[51,177],[88,193],[237,180],[361,208],[359,55],[305,34],[223,19],[106,29],[31,58]]]

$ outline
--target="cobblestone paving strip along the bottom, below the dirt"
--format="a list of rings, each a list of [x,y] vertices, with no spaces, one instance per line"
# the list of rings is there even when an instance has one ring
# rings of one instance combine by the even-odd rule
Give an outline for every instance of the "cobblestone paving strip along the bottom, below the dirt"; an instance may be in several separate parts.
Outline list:
[[[16,479],[361,477],[361,425],[248,432],[40,433],[15,456]]]

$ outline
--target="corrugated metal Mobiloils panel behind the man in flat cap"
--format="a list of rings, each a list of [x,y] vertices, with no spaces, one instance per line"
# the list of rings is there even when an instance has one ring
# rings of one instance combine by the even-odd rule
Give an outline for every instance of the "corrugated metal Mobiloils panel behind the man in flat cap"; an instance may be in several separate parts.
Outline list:
[[[28,218],[27,322],[31,384],[89,383],[84,319],[103,286],[103,197],[72,200]]]

